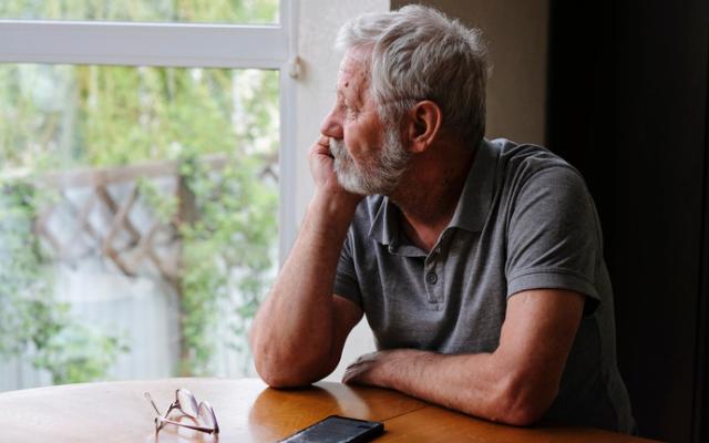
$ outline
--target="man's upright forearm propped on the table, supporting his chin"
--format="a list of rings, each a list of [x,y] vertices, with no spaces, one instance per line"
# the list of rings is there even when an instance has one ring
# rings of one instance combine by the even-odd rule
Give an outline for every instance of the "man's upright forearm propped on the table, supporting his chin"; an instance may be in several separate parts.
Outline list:
[[[339,360],[332,300],[338,257],[356,204],[316,196],[267,300],[250,343],[257,370],[271,384],[307,384]]]

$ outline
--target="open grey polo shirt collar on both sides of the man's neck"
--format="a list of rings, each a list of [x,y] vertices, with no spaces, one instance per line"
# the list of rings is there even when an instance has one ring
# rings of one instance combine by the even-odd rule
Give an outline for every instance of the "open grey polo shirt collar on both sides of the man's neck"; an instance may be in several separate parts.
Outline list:
[[[480,143],[473,165],[467,173],[463,192],[458,200],[449,227],[466,229],[473,233],[483,230],[495,185],[499,150],[483,140]],[[372,220],[369,236],[390,249],[399,243],[401,210],[389,197],[383,197]]]

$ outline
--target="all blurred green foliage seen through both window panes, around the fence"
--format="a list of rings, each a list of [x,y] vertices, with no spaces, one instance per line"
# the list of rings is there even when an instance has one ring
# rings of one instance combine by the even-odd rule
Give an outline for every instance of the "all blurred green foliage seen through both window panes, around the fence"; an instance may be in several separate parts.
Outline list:
[[[0,17],[273,22],[278,0],[17,0]],[[179,162],[194,196],[182,237],[182,374],[210,374],[220,318],[238,346],[276,251],[278,73],[258,70],[0,65],[0,165],[8,172]],[[213,169],[205,156],[220,154]],[[0,356],[32,350],[54,382],[102,378],[125,351],[53,300],[51,268],[31,230],[47,193],[13,183],[0,202]],[[138,183],[163,223],[181,202]],[[40,198],[41,197],[41,198]],[[227,307],[227,311],[225,311]],[[237,343],[237,344],[234,344]]]

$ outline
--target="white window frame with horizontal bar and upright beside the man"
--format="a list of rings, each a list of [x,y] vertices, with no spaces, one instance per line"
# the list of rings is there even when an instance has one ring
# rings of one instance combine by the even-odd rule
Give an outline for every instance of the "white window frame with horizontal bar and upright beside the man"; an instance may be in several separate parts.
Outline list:
[[[279,259],[296,236],[297,0],[273,25],[0,20],[0,63],[273,69],[280,79]]]

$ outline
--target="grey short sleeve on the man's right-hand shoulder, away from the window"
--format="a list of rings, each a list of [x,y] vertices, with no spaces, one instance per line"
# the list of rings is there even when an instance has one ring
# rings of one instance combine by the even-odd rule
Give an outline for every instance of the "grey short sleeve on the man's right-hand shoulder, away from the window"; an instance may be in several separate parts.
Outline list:
[[[566,289],[600,301],[596,267],[600,228],[580,175],[568,166],[537,171],[514,196],[507,231],[507,297],[530,289]]]

